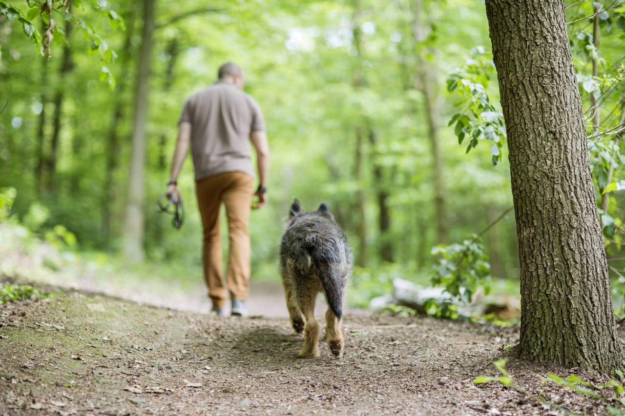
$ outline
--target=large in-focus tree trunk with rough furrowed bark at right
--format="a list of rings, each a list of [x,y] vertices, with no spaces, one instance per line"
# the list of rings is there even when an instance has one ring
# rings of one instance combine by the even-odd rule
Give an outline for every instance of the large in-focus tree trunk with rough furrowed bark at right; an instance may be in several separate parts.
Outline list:
[[[519,236],[519,355],[622,368],[564,4],[486,0],[486,13]]]

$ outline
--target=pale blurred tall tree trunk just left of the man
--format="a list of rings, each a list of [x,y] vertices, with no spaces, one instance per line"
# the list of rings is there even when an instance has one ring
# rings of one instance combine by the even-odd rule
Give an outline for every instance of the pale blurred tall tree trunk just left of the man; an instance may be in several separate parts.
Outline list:
[[[143,234],[145,176],[146,176],[146,119],[148,117],[148,89],[150,55],[154,32],[154,1],[143,1],[143,35],[139,51],[139,70],[134,96],[133,146],[128,177],[128,201],[123,230],[123,254],[127,260],[144,259]]]

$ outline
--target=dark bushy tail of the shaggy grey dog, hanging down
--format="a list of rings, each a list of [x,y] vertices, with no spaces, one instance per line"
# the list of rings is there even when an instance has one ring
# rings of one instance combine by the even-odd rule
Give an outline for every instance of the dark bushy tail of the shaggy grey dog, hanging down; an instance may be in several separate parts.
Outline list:
[[[343,289],[341,287],[341,262],[338,257],[339,248],[336,241],[317,235],[316,244],[310,245],[308,249],[317,276],[326,292],[327,304],[337,319],[341,320]]]

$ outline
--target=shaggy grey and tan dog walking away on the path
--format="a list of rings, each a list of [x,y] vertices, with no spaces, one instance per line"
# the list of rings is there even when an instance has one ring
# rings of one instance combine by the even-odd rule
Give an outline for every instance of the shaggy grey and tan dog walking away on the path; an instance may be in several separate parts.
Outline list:
[[[326,341],[332,354],[343,354],[342,304],[354,257],[349,242],[334,216],[321,204],[314,212],[303,212],[295,199],[280,245],[280,272],[293,329],[304,330],[299,357],[319,356],[319,324],[314,318],[317,293],[324,292]]]

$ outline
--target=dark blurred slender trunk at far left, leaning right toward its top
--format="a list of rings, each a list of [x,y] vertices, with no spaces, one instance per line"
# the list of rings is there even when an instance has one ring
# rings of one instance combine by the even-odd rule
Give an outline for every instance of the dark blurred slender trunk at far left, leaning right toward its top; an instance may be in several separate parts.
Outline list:
[[[72,8],[72,1],[69,2],[69,11]],[[69,36],[72,32],[72,24],[70,21],[65,22],[65,37],[69,39]],[[56,87],[56,94],[54,95],[54,115],[53,115],[53,130],[52,130],[52,138],[50,141],[50,154],[47,157],[47,191],[52,192],[53,194],[57,189],[57,180],[56,180],[56,159],[57,159],[57,151],[59,147],[59,136],[61,134],[61,119],[63,118],[63,99],[66,89],[68,86],[65,84],[66,78],[71,72],[73,67],[72,63],[72,49],[68,44],[65,44],[63,47],[63,61],[61,61],[61,71],[59,72],[59,84]]]

